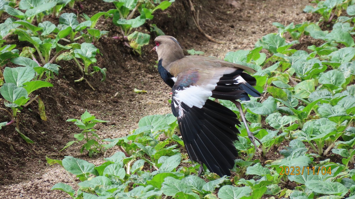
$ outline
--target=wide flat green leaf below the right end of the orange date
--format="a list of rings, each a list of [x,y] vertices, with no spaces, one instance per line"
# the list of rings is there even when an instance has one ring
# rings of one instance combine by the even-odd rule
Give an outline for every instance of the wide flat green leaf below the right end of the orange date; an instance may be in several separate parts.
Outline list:
[[[318,180],[310,180],[307,181],[305,184],[307,188],[311,189],[313,192],[320,194],[344,196],[349,191],[343,184],[339,182],[323,182]]]

